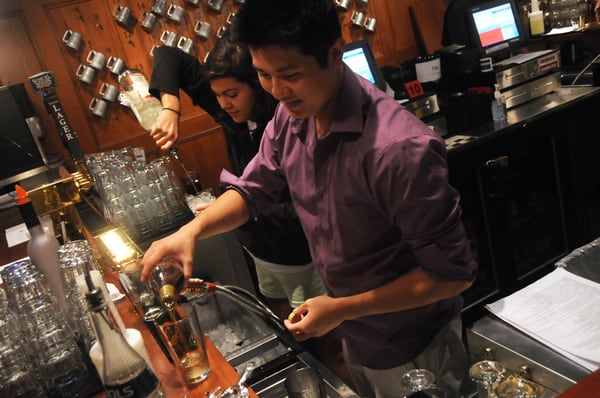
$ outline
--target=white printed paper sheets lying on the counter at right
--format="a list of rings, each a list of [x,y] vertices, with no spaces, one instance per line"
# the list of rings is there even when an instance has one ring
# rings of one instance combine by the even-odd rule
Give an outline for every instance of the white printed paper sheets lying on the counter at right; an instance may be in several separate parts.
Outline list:
[[[599,283],[557,268],[486,308],[587,369],[600,367]]]

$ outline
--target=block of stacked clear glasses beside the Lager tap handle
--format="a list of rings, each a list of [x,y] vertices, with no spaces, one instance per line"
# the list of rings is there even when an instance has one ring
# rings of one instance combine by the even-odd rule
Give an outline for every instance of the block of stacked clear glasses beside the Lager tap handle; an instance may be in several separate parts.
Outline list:
[[[170,158],[146,163],[130,153],[124,148],[86,157],[105,217],[138,241],[189,221],[193,215]]]

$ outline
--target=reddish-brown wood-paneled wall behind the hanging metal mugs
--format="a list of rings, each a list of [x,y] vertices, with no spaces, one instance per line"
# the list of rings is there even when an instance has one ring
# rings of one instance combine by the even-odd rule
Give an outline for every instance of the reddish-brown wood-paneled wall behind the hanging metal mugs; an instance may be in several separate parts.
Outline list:
[[[421,6],[420,3],[448,1],[370,0],[367,6],[351,2],[350,9],[340,12],[344,38],[348,42],[366,38],[371,41],[381,66],[400,65],[407,58],[421,55],[409,7],[417,3]],[[183,22],[177,24],[160,17],[152,30],[145,31],[139,18],[144,11],[151,10],[154,0],[3,0],[0,2],[0,18],[4,23],[0,32],[3,38],[11,39],[8,42],[3,40],[0,50],[3,55],[11,56],[3,56],[0,61],[0,82],[7,84],[5,80],[13,79],[27,82],[27,78],[35,73],[52,71],[59,84],[57,94],[86,153],[142,146],[149,158],[157,157],[161,153],[128,108],[110,104],[104,118],[93,116],[88,111],[89,102],[98,96],[100,85],[103,82],[117,84],[116,76],[102,70],[97,73],[93,84],[88,85],[77,79],[75,71],[79,64],[86,64],[85,57],[93,49],[107,58],[113,55],[124,59],[129,67],[141,69],[149,78],[152,65],[150,51],[153,46],[163,44],[160,36],[164,30],[192,39],[194,55],[203,60],[217,40],[219,28],[228,26],[228,16],[235,14],[239,7],[235,0],[224,0],[220,11],[210,10],[205,0],[198,6],[185,0],[167,3],[183,7]],[[117,5],[131,9],[134,23],[128,27],[116,23],[112,14]],[[432,12],[438,9],[433,7]],[[377,20],[374,34],[352,26],[350,18],[354,11],[361,11],[366,17]],[[202,40],[194,33],[198,21],[211,24],[208,40]],[[85,45],[81,51],[72,51],[62,43],[66,29],[83,34]],[[64,151],[54,121],[47,115],[41,98],[31,90],[30,94],[48,141],[59,151]],[[221,168],[229,165],[222,131],[212,117],[194,107],[187,96],[181,95],[181,100],[180,157],[188,169],[200,172],[205,185],[216,187]]]

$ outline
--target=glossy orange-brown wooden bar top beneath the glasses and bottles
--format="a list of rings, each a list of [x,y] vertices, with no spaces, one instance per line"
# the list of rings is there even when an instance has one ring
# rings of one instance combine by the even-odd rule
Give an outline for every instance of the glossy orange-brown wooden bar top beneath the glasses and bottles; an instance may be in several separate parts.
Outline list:
[[[23,220],[17,207],[0,210],[0,225],[2,226],[2,231],[22,222]],[[21,243],[9,248],[6,242],[6,236],[3,233],[2,239],[0,239],[0,265],[19,260],[26,256],[27,243]],[[116,274],[107,269],[104,269],[103,271],[106,282],[114,283],[121,290]],[[154,371],[156,372],[167,397],[205,397],[206,392],[210,392],[219,386],[225,389],[237,382],[239,378],[238,373],[225,360],[225,358],[214,347],[214,345],[208,339],[206,339],[206,350],[211,366],[211,374],[204,382],[198,384],[193,389],[187,389],[186,391],[180,382],[179,377],[177,376],[175,368],[162,352],[160,346],[154,339],[154,336],[151,334],[150,330],[148,330],[146,327],[144,321],[140,318],[137,312],[135,312],[134,307],[129,299],[125,297],[119,300],[116,303],[116,307],[121,314],[126,327],[141,331],[146,350],[148,351],[148,355],[152,362],[152,367],[154,368]],[[249,396],[253,398],[257,397],[253,391],[250,391]],[[95,398],[101,397],[106,397],[106,394],[101,392],[95,395]]]

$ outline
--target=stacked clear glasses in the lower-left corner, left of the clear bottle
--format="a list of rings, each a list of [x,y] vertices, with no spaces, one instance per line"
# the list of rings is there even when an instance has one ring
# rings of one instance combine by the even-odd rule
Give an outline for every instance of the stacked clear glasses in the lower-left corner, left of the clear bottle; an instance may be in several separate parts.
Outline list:
[[[83,395],[90,387],[88,368],[46,277],[29,260],[6,266],[0,275],[15,321],[14,329],[5,332],[18,334],[27,357],[21,362],[36,369],[48,396]]]

